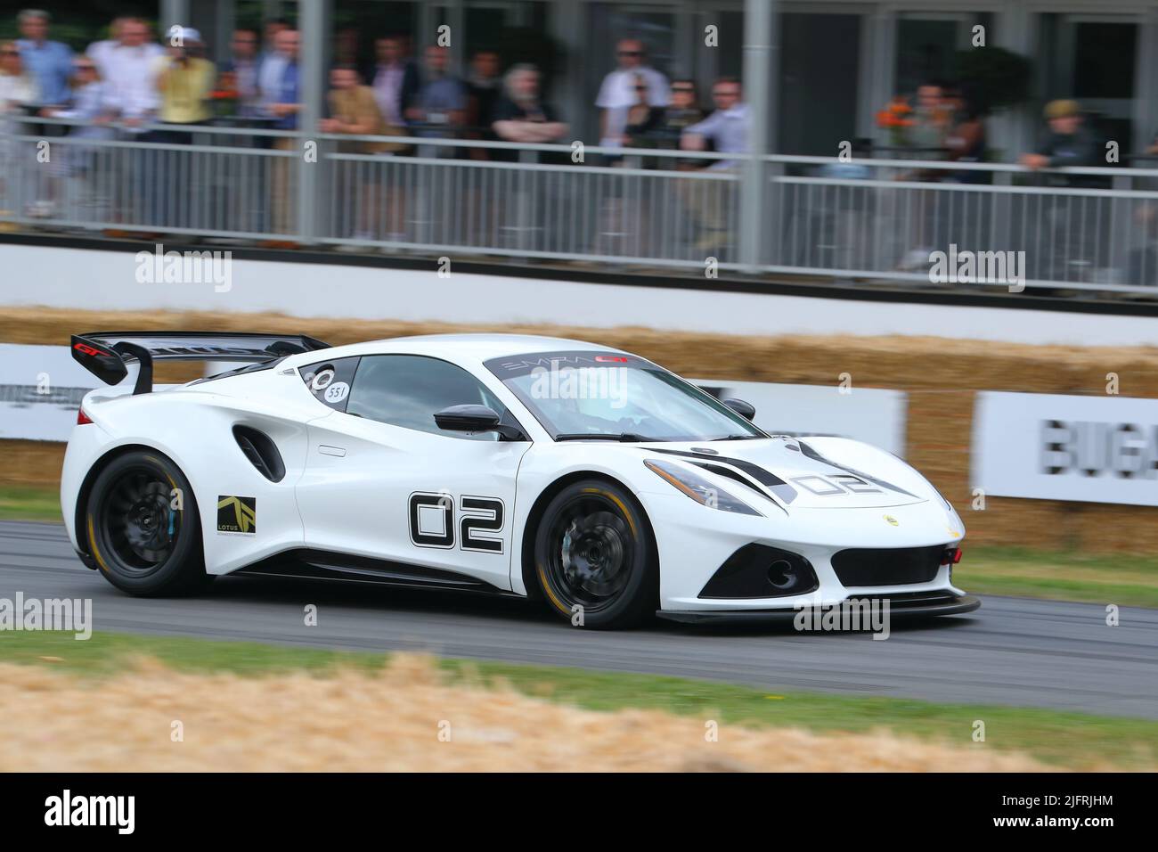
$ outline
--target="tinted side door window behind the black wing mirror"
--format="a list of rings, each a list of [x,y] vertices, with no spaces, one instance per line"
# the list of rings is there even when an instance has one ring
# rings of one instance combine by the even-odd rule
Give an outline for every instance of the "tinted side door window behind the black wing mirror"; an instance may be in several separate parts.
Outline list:
[[[468,435],[434,423],[437,412],[471,405],[492,408],[504,423],[513,422],[503,403],[462,367],[420,355],[373,355],[358,365],[346,414],[454,438],[498,440],[496,432]]]

